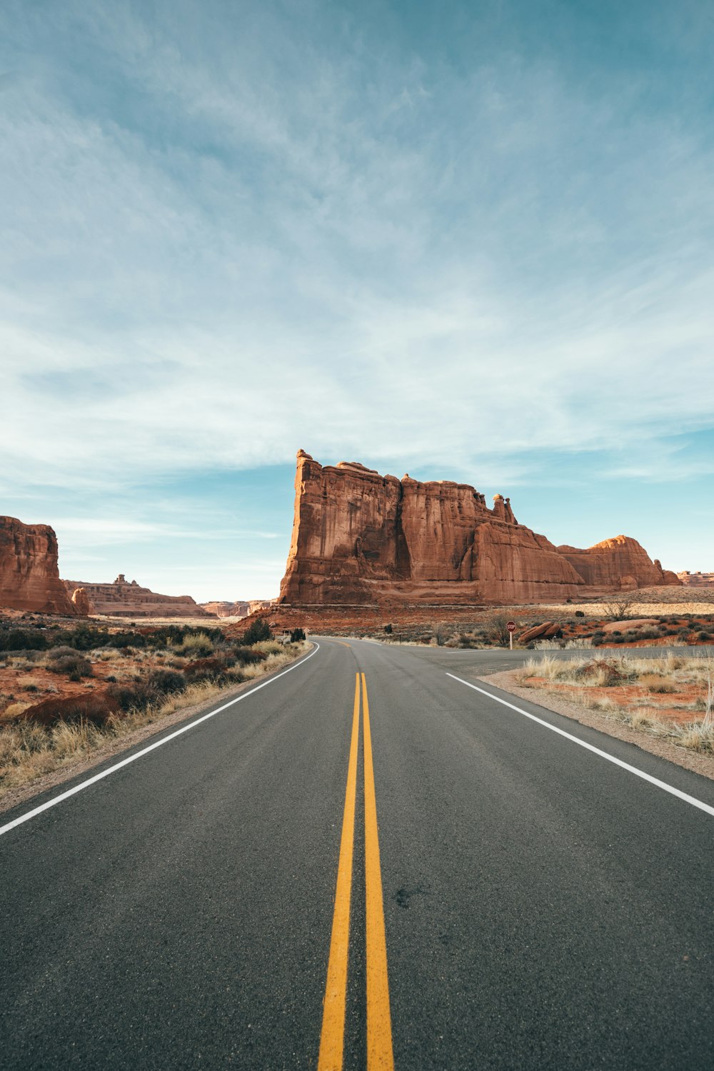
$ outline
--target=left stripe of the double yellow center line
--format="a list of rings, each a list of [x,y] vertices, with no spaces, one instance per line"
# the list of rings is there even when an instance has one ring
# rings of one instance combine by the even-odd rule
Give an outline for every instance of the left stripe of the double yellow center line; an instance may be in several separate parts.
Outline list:
[[[345,1008],[347,1005],[347,957],[350,942],[350,893],[352,891],[352,856],[354,849],[354,799],[356,795],[356,759],[360,745],[360,674],[354,681],[354,713],[352,742],[347,766],[347,789],[343,836],[337,864],[335,911],[328,961],[328,981],[322,1006],[322,1032],[318,1071],[341,1071],[345,1047]]]

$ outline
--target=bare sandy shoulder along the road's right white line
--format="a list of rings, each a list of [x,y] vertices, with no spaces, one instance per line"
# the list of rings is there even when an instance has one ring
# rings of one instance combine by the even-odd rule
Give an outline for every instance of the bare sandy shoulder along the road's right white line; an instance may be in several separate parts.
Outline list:
[[[675,763],[677,766],[681,766],[685,770],[701,773],[702,776],[711,778],[714,781],[714,755],[700,755],[696,751],[680,748],[667,740],[658,740],[656,737],[648,736],[647,733],[629,728],[613,718],[606,718],[595,710],[587,710],[584,707],[568,703],[559,695],[552,695],[543,689],[521,688],[516,683],[517,673],[517,669],[506,669],[477,679],[484,684],[492,684],[504,692],[510,692],[511,695],[517,696],[519,699],[536,703],[538,706],[545,707],[546,710],[552,710],[556,714],[572,718],[573,721],[580,722],[581,725],[587,725],[589,728],[598,729],[601,733],[606,733],[618,740],[624,740],[626,743],[634,743],[642,751],[649,751],[651,755],[658,755],[670,763]]]

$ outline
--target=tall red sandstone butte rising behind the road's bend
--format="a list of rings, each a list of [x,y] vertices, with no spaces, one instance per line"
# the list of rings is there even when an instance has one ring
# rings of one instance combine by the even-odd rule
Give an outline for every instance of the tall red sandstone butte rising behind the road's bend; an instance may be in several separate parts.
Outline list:
[[[528,603],[681,583],[625,536],[553,546],[469,484],[380,476],[298,453],[292,541],[279,602]]]

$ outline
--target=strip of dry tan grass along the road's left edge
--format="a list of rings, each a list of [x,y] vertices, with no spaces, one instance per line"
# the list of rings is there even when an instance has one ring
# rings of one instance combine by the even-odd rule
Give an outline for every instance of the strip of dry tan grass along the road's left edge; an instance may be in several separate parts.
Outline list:
[[[241,676],[245,680],[254,680],[273,673],[303,654],[307,646],[307,644],[292,645],[286,649],[282,644],[273,644],[270,640],[256,645],[268,654],[268,658],[264,662],[241,667]],[[33,722],[0,724],[0,798],[19,785],[91,756],[107,741],[127,737],[135,729],[153,723],[157,723],[156,727],[159,728],[158,723],[176,711],[204,703],[222,693],[234,691],[234,688],[236,685],[226,689],[210,681],[189,684],[183,692],[167,695],[145,710],[135,709],[112,716],[107,725],[101,728],[86,722],[79,724],[58,722],[51,727],[36,725]],[[27,703],[15,703],[5,709],[3,716],[12,718],[28,706]]]

